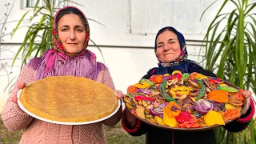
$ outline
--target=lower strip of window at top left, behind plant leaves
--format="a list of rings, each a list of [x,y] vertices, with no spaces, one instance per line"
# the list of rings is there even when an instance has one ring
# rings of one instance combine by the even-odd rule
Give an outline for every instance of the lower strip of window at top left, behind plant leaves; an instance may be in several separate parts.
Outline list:
[[[56,8],[68,6],[70,4],[69,0],[66,0],[66,1],[63,1],[63,0],[24,0],[26,8],[33,8],[37,2],[38,2],[38,7],[46,6],[46,4],[48,2],[50,3],[51,6],[54,6]]]

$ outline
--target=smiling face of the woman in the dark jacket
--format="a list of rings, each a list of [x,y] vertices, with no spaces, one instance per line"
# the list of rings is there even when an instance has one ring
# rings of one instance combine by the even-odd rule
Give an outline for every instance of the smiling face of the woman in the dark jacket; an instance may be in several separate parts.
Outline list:
[[[170,30],[164,31],[157,38],[157,56],[161,62],[170,63],[181,54],[178,36]]]

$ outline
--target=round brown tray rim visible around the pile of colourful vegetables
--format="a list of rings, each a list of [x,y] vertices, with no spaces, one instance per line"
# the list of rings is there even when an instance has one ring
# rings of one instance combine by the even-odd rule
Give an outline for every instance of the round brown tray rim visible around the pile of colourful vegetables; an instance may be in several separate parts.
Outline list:
[[[230,82],[226,82],[226,81],[223,81],[226,85],[228,86],[232,86],[236,89],[238,89],[238,86],[234,86],[232,83]],[[249,98],[245,98],[244,101],[243,101],[243,106],[242,106],[242,110],[241,110],[241,114],[243,114],[243,112],[246,111],[246,106],[249,104],[249,101],[250,99]],[[128,110],[130,110],[129,108],[127,108]],[[212,130],[218,126],[222,126],[222,125],[214,125],[214,126],[205,126],[205,127],[200,127],[200,128],[173,128],[173,127],[170,127],[170,126],[161,126],[161,125],[158,125],[156,123],[152,123],[152,122],[149,122],[149,121],[146,121],[146,119],[143,119],[143,118],[140,118],[138,117],[138,115],[134,115],[136,118],[138,118],[139,120],[141,120],[142,122],[145,122],[146,124],[149,124],[150,126],[154,126],[154,127],[157,127],[157,128],[160,128],[160,129],[166,129],[166,130],[181,130],[181,131],[204,131],[204,130]],[[234,119],[236,120],[236,119]],[[233,121],[234,121],[233,120]],[[232,122],[232,121],[230,121]],[[230,122],[226,122],[225,124],[228,124]]]

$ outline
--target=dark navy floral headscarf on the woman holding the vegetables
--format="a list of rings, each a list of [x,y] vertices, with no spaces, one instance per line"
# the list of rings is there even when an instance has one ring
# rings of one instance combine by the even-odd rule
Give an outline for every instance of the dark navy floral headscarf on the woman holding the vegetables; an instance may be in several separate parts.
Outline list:
[[[174,61],[170,63],[161,62],[161,60],[157,56],[157,38],[159,34],[162,34],[166,30],[171,30],[174,32],[174,34],[178,36],[178,41],[181,48],[181,54],[178,56],[178,58],[174,59]],[[158,68],[151,69],[148,72],[149,74],[168,74],[174,70],[180,70],[182,71],[182,73],[192,73],[194,71],[197,71],[198,69],[202,69],[202,67],[199,66],[196,62],[186,59],[188,53],[186,51],[185,38],[180,32],[178,32],[178,30],[175,30],[174,27],[166,26],[158,31],[158,34],[156,35],[154,41],[154,52],[158,58]]]

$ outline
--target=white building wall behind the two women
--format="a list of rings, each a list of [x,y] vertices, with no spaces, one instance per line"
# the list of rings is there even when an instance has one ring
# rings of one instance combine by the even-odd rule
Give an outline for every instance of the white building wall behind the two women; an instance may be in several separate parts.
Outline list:
[[[13,1],[0,0],[0,18],[5,12],[3,3],[12,4]],[[255,0],[252,1],[255,2]],[[13,30],[16,26],[17,22],[12,21],[20,19],[22,14],[30,10],[23,8],[22,2],[25,0],[14,2],[14,9],[9,18],[10,23],[6,25],[7,31]],[[222,1],[216,2],[207,10],[201,22],[199,19],[203,10],[214,0],[76,0],[75,2],[83,6],[76,4],[70,4],[70,6],[78,6],[89,19],[90,38],[100,46],[116,89],[126,93],[127,86],[138,82],[147,70],[157,66],[158,61],[153,49],[154,36],[163,26],[174,26],[182,32],[186,40],[190,40],[187,42],[189,58],[201,62],[204,49],[199,45],[202,43],[192,41],[202,40],[207,26],[217,13]],[[6,62],[11,62],[10,59],[14,58],[25,34],[26,27],[23,27],[14,34],[14,37],[4,38],[5,44],[2,47],[8,50],[0,54],[1,59],[7,58],[9,61]],[[199,53],[201,48],[202,52]],[[103,62],[101,54],[91,42],[88,49],[98,56],[99,62]],[[9,73],[11,72],[9,80],[18,76],[19,66],[20,61],[15,63],[13,68],[7,68]],[[1,71],[0,74],[2,73]],[[0,112],[2,104],[8,97],[7,90],[4,92],[7,83],[8,77],[0,77]]]

